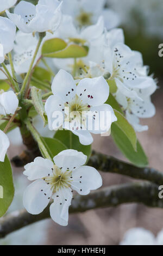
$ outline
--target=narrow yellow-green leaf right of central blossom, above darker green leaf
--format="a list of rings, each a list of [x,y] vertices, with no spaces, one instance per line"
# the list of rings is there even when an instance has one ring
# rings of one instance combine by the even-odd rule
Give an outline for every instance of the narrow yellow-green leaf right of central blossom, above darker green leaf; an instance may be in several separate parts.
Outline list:
[[[117,125],[124,132],[124,134],[128,137],[130,143],[133,145],[134,150],[136,151],[137,137],[133,126],[131,126],[128,120],[124,117],[124,115],[122,115],[116,109],[114,109],[114,113],[118,119],[115,122],[115,125]]]

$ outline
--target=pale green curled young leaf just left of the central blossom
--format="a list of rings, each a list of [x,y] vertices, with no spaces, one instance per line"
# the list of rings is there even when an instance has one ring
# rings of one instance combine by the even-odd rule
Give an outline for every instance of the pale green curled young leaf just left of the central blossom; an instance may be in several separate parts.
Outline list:
[[[31,89],[32,101],[33,105],[43,120],[44,127],[48,124],[47,115],[45,113],[45,108],[42,102],[42,91],[37,89],[36,87],[32,87]]]

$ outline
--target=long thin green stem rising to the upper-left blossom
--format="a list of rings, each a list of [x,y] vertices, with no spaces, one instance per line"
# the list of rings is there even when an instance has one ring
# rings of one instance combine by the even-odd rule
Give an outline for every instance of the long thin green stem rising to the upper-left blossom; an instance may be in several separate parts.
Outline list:
[[[42,34],[42,33],[40,33],[40,34]],[[37,46],[36,46],[36,50],[35,50],[35,53],[34,53],[32,62],[30,63],[29,70],[28,70],[27,75],[26,75],[26,77],[25,77],[25,79],[24,79],[24,82],[23,82],[23,84],[22,84],[21,96],[23,96],[23,94],[24,94],[24,92],[25,92],[25,90],[26,90],[26,85],[27,85],[27,82],[28,82],[28,78],[30,77],[30,73],[31,73],[31,71],[32,71],[33,64],[34,64],[36,55],[37,55],[37,53],[38,53],[38,51],[39,51],[39,48],[40,48],[42,39],[43,39],[43,36],[40,35],[39,42],[38,42],[38,44],[37,44]]]

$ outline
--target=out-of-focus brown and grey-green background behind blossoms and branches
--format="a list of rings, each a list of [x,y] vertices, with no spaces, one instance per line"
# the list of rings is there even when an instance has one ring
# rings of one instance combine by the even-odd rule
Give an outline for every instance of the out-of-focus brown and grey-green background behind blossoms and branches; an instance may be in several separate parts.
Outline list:
[[[156,115],[145,120],[149,130],[138,133],[137,136],[149,157],[149,165],[163,172],[163,57],[158,55],[159,44],[163,44],[163,2],[162,0],[108,0],[106,5],[120,16],[120,27],[124,29],[126,44],[132,50],[142,52],[144,64],[150,66],[150,74],[158,78],[159,88],[152,98],[156,106]],[[14,145],[10,147],[9,157],[21,153],[23,149],[18,139],[12,143]],[[126,160],[111,137],[95,136],[93,149]],[[22,191],[27,185],[22,169],[15,168],[14,174],[16,194],[10,211],[23,208]],[[133,181],[121,175],[101,174],[103,186]],[[133,229],[136,227],[140,228]],[[155,244],[158,240],[163,245],[162,233],[159,233],[162,228],[162,209],[151,209],[140,204],[124,204],[117,208],[70,215],[67,227],[60,227],[51,220],[42,221],[12,233],[6,239],[0,240],[0,245]],[[130,229],[132,230],[126,234]]]

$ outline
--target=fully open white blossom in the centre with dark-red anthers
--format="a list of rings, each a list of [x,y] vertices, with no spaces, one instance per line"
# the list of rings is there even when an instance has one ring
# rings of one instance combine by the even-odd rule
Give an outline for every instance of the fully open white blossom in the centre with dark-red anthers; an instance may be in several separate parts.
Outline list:
[[[102,76],[84,78],[76,86],[73,77],[60,70],[54,77],[52,92],[54,95],[45,104],[49,130],[62,126],[79,136],[80,143],[89,145],[93,142],[91,133],[105,133],[117,121],[112,107],[104,104],[109,97],[109,86]]]

